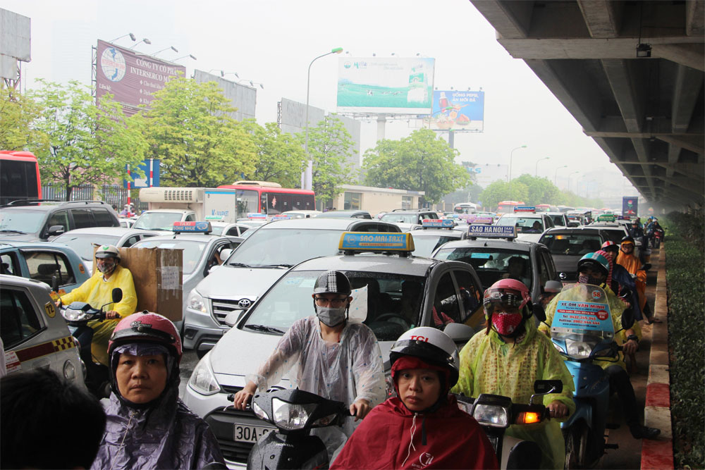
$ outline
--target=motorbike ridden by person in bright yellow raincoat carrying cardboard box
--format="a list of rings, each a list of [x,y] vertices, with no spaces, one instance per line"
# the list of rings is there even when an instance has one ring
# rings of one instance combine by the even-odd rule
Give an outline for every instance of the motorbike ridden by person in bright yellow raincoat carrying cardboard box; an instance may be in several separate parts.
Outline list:
[[[54,291],[56,292],[56,287]],[[91,307],[87,302],[71,302],[68,305],[62,304],[60,307],[61,316],[66,320],[68,330],[78,347],[86,387],[99,399],[110,396],[110,377],[106,366],[93,361],[91,352],[93,330],[88,326],[88,322],[105,320],[104,308],[120,302],[123,299],[123,291],[116,287],[112,290],[111,297],[111,302],[102,305],[99,309]]]

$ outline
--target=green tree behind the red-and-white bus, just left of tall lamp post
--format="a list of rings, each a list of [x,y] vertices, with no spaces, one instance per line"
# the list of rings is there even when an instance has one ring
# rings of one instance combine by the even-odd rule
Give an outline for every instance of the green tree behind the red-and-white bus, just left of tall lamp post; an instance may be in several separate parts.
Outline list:
[[[257,149],[255,170],[245,173],[245,179],[271,181],[283,187],[300,186],[306,159],[299,136],[281,132],[276,123],[262,127],[254,119],[245,119],[242,125],[252,135]]]

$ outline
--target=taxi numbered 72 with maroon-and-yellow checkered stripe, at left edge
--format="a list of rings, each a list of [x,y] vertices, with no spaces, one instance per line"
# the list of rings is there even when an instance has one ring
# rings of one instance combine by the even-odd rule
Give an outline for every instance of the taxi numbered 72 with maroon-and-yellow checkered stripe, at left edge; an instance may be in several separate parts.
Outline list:
[[[85,390],[78,347],[50,291],[38,280],[0,274],[0,335],[6,372],[51,369]]]

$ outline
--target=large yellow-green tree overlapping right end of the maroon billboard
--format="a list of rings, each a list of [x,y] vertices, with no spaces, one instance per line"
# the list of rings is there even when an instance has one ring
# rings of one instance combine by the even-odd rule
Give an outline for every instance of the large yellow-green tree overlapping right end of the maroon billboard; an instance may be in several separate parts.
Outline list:
[[[170,80],[149,106],[146,120],[135,119],[147,137],[149,158],[161,160],[164,185],[214,187],[255,171],[252,135],[226,114],[234,109],[215,82]]]

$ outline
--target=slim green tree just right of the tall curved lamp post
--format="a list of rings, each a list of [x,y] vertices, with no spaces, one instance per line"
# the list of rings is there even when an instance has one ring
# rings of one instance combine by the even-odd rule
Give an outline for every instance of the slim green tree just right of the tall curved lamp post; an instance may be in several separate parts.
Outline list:
[[[315,128],[309,128],[309,157],[313,161],[312,182],[317,199],[332,201],[343,190],[341,185],[353,183],[356,178],[353,164],[354,142],[343,122],[328,116]]]

